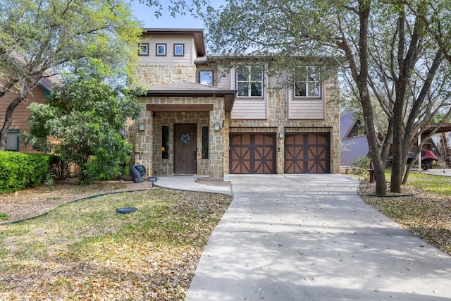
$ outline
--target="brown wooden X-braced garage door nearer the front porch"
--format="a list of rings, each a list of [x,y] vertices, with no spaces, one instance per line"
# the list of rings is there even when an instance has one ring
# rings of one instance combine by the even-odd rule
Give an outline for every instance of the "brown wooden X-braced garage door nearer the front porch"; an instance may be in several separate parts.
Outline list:
[[[230,134],[230,173],[276,173],[275,134]]]

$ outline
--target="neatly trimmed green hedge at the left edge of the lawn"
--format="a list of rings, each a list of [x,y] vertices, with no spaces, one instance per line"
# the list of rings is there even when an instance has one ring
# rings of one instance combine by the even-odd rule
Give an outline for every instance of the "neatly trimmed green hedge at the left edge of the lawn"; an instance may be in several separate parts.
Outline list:
[[[43,183],[49,155],[0,152],[0,193],[32,188]]]

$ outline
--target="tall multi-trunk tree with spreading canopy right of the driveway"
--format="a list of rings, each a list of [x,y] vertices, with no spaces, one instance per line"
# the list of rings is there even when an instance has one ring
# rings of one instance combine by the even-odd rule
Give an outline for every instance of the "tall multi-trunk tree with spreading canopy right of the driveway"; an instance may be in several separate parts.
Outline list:
[[[437,109],[421,111],[432,99],[431,85],[443,68],[443,51],[428,34],[424,18],[410,13],[401,1],[240,0],[228,1],[219,10],[209,8],[206,24],[211,51],[272,55],[280,69],[296,66],[290,58],[299,55],[345,58],[364,113],[376,193],[385,195],[387,190],[385,159],[391,142],[390,188],[400,191],[412,140]],[[384,81],[393,94],[381,89]],[[374,98],[385,105],[384,143],[374,124]]]

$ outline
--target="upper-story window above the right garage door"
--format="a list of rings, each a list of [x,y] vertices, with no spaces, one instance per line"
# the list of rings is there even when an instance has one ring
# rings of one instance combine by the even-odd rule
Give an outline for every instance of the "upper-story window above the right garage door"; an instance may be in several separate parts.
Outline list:
[[[307,66],[295,81],[295,97],[321,97],[320,68]]]

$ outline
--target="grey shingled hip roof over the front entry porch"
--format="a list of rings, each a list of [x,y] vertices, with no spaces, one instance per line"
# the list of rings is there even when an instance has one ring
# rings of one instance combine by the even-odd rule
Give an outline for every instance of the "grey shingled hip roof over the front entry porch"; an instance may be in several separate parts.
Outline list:
[[[173,82],[165,85],[150,86],[143,97],[223,97],[224,109],[230,112],[235,102],[236,90],[228,90],[220,87],[210,87],[194,82]],[[173,104],[168,106],[180,106]],[[182,108],[180,108],[183,111]],[[173,111],[173,110],[171,110]]]

